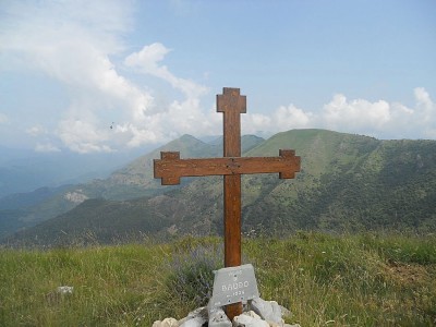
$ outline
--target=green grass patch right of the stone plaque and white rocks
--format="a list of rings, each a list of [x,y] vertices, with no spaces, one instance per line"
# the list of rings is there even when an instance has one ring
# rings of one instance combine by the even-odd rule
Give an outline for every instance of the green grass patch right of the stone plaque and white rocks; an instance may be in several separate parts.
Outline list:
[[[434,237],[302,233],[254,242],[250,253],[261,249],[253,259],[262,294],[303,326],[436,324]]]

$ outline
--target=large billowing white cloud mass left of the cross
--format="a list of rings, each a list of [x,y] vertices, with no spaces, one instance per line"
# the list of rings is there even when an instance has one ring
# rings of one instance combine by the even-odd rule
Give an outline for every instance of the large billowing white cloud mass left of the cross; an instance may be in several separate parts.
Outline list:
[[[63,108],[56,131],[49,133],[35,124],[27,129],[28,134],[47,132],[70,149],[88,153],[165,142],[210,129],[199,105],[207,87],[178,77],[161,64],[170,52],[162,44],[126,56],[124,68],[110,59],[123,55],[121,36],[132,23],[130,4],[60,1],[11,2],[5,7],[8,22],[3,22],[0,33],[4,60],[0,69],[40,71],[62,83],[70,95],[70,105]],[[182,99],[157,104],[147,85],[119,73],[125,68],[167,82],[182,94]],[[0,117],[0,122],[5,120]]]

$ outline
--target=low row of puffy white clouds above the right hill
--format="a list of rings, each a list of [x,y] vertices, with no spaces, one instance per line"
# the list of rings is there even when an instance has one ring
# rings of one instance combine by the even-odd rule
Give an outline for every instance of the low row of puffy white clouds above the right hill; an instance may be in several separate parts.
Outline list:
[[[409,108],[386,100],[347,99],[342,94],[323,106],[319,112],[305,111],[294,105],[280,106],[270,116],[247,114],[245,133],[319,128],[379,138],[435,138],[436,105],[423,87],[414,90],[415,106]]]

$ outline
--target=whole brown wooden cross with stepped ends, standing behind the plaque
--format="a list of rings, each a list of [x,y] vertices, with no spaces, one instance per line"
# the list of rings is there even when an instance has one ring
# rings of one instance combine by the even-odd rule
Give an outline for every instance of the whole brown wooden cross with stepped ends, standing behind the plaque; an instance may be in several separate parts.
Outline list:
[[[280,179],[293,179],[300,171],[294,150],[280,149],[278,157],[241,157],[241,113],[246,97],[239,88],[225,87],[217,95],[217,112],[223,113],[223,158],[180,159],[180,153],[162,152],[154,160],[156,179],[162,185],[180,183],[182,177],[223,175],[225,181],[225,266],[241,265],[241,174],[278,172]],[[228,305],[230,319],[241,314],[241,303]]]

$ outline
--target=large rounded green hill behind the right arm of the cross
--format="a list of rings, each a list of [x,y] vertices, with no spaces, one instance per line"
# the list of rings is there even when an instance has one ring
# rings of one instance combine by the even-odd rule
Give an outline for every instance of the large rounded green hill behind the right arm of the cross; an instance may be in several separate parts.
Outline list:
[[[296,133],[271,141],[282,147]],[[302,173],[291,182],[264,178],[271,191],[245,208],[246,226],[255,226],[253,217],[265,226],[269,214],[275,217],[269,223],[286,231],[435,230],[436,142],[377,141],[313,130],[303,135],[294,143]],[[253,153],[264,152],[263,146]]]

